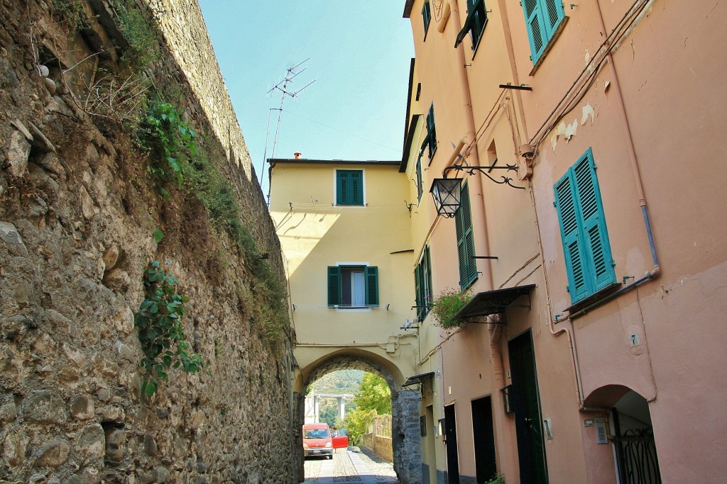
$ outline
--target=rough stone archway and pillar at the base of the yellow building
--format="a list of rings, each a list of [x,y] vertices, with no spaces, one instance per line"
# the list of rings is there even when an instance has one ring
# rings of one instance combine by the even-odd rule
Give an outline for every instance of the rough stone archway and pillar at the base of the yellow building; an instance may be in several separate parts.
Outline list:
[[[364,353],[364,354],[362,354]],[[394,471],[403,484],[422,482],[421,436],[419,429],[419,395],[410,390],[398,390],[401,374],[390,361],[374,353],[340,351],[319,359],[301,369],[302,380],[297,393],[298,422],[302,425],[305,412],[305,388],[324,374],[343,369],[358,369],[379,375],[391,390],[392,447]]]

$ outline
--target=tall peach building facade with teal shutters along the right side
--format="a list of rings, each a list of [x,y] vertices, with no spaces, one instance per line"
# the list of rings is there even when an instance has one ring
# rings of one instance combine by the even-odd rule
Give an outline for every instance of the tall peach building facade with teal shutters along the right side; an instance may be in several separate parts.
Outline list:
[[[422,483],[724,479],[726,7],[406,1]]]

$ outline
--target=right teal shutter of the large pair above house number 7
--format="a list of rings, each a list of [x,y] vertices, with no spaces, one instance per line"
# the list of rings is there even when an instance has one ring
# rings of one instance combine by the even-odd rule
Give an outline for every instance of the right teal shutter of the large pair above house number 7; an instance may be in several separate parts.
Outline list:
[[[574,165],[573,173],[595,292],[613,283],[616,280],[616,274],[611,259],[611,247],[608,243],[606,216],[603,214],[601,192],[598,189],[593,153],[590,148]]]

